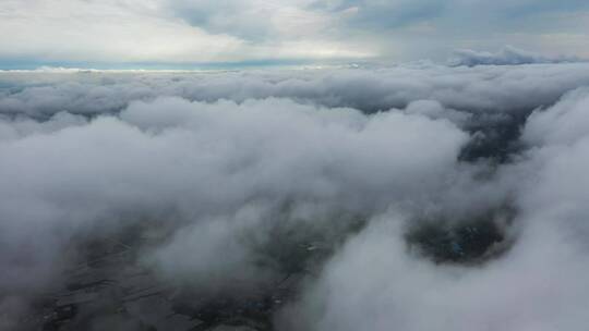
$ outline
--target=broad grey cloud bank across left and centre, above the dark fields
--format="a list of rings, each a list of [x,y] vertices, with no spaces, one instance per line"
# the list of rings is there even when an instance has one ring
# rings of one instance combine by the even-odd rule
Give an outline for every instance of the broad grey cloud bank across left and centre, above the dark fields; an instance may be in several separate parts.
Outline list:
[[[1,286],[14,295],[53,280],[68,243],[142,220],[188,226],[148,258],[164,273],[229,280],[253,256],[237,238],[267,241],[261,229],[286,204],[284,222],[420,199],[441,189],[467,137],[445,120],[284,99],[158,98],[92,121],[58,113],[1,127]]]

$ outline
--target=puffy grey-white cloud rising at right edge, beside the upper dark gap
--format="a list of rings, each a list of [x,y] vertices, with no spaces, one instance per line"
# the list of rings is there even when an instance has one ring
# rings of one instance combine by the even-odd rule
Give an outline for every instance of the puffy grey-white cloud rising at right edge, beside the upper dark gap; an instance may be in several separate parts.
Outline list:
[[[534,112],[522,135],[533,146],[527,162],[541,169],[532,191],[522,197],[525,206],[540,221],[560,222],[563,240],[581,247],[589,230],[587,176],[582,175],[588,162],[589,131],[582,126],[588,100],[586,88],[569,93],[553,108]]]

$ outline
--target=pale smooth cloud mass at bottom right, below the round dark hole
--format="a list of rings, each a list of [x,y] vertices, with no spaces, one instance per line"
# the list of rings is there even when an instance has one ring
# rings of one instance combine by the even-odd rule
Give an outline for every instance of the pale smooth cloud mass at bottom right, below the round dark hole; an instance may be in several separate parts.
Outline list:
[[[285,328],[579,330],[587,324],[582,309],[589,293],[579,278],[588,270],[587,250],[552,232],[558,220],[548,229],[527,228],[506,258],[480,269],[436,267],[408,255],[395,226],[400,222],[387,214],[350,241],[303,304],[287,310]]]

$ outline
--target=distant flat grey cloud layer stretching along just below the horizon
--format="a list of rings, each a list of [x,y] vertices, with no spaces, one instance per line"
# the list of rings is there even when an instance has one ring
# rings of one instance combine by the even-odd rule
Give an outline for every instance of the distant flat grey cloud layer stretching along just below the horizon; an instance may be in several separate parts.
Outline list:
[[[364,112],[434,100],[468,112],[516,112],[548,107],[566,91],[589,84],[589,64],[447,68],[429,62],[393,68],[333,68],[233,72],[10,72],[0,76],[0,109],[47,118],[119,112],[132,100],[177,96],[192,101],[289,98]],[[533,98],[529,96],[534,94]]]

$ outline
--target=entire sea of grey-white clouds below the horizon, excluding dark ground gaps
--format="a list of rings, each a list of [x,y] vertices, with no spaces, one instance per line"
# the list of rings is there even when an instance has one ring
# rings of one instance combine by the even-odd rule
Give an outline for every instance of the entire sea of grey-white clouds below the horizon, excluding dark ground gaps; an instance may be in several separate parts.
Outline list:
[[[199,295],[330,245],[277,330],[580,330],[587,85],[579,63],[1,73],[0,328],[94,241],[155,236],[137,263]],[[486,219],[502,242],[473,261],[409,241]]]

